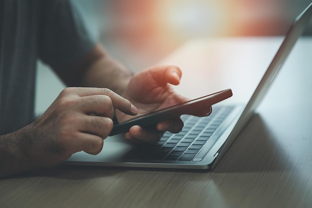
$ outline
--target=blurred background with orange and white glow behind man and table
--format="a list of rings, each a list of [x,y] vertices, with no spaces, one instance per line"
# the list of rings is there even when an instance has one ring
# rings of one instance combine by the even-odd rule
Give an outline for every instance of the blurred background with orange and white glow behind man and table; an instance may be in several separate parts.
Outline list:
[[[133,71],[202,37],[285,35],[311,0],[73,0],[89,31]],[[311,35],[308,29],[306,35]],[[65,87],[39,63],[36,112]],[[49,96],[47,96],[49,95]],[[44,97],[44,99],[42,99]]]

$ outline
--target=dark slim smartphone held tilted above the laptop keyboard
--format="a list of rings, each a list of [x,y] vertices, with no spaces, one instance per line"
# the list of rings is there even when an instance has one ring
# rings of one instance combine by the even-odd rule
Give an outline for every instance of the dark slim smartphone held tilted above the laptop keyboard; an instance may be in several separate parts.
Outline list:
[[[147,127],[152,124],[156,124],[160,121],[168,120],[174,117],[179,117],[183,114],[192,114],[192,112],[194,111],[198,111],[201,108],[207,108],[207,106],[216,104],[222,100],[231,97],[232,95],[233,95],[232,90],[226,89],[220,92],[196,98],[194,100],[190,100],[151,113],[147,113],[142,116],[134,117],[133,119],[129,119],[125,122],[114,125],[113,130],[110,133],[110,136],[128,132],[129,129],[135,125]]]

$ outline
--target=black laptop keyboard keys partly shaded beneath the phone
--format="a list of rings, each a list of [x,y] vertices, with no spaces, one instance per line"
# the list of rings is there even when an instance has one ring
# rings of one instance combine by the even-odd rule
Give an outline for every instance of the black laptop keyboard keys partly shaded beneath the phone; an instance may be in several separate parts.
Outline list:
[[[140,144],[131,149],[123,159],[153,161],[201,161],[222,132],[218,127],[233,107],[216,106],[207,117],[182,115],[181,132],[165,132],[155,144]]]

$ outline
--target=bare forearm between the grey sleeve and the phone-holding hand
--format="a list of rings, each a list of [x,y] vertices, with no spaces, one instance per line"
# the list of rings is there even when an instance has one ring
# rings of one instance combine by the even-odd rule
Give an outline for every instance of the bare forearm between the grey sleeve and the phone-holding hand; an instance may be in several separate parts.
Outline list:
[[[132,72],[97,44],[89,54],[55,72],[67,86],[103,87],[121,94]]]

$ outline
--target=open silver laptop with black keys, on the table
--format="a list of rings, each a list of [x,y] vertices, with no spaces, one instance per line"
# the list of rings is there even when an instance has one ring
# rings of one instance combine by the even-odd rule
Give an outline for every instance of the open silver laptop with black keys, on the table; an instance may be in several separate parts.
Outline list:
[[[246,104],[216,105],[208,117],[182,115],[181,132],[165,132],[156,144],[135,145],[123,134],[108,137],[98,155],[73,154],[65,165],[165,169],[213,169],[250,120],[297,39],[308,26],[312,3],[295,19],[278,52]],[[234,94],[235,96],[235,94]]]

